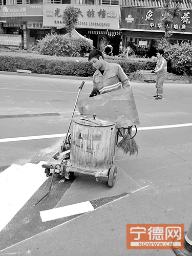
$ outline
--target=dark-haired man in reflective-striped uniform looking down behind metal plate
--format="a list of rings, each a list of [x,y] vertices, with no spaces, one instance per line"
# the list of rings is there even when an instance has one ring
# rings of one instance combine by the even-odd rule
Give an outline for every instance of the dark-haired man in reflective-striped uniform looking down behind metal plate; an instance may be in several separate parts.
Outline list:
[[[88,60],[96,69],[93,75],[93,90],[90,97],[130,87],[130,79],[117,63],[109,63],[103,59],[102,52],[95,49],[90,52]],[[132,128],[130,127],[129,133]],[[122,135],[125,129],[121,129]]]

